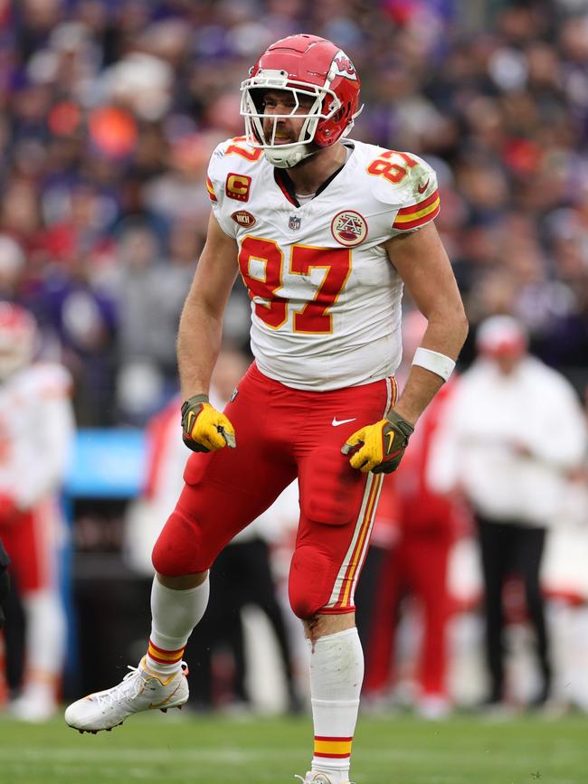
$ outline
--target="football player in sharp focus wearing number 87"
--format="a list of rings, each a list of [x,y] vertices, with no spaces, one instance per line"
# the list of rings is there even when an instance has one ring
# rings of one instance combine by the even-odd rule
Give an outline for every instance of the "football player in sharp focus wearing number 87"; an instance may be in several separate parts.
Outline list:
[[[435,174],[417,156],[346,138],[359,88],[345,52],[308,34],[272,44],[242,82],[245,136],[213,152],[213,213],[179,331],[194,455],[153,553],[147,655],[122,684],[68,708],[81,731],[185,703],[182,655],[204,614],[208,570],[298,477],[289,598],[311,652],[315,731],[303,780],[349,780],[364,668],[354,591],[375,506],[467,332],[432,222]],[[208,388],[239,273],[255,362],[221,413]],[[428,328],[397,400],[404,284]]]

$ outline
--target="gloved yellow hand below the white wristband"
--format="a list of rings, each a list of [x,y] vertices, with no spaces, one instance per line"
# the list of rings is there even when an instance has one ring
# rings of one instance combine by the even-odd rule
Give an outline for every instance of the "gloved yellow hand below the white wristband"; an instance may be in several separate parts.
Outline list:
[[[341,453],[348,455],[353,451],[349,463],[364,474],[368,471],[391,474],[398,468],[413,430],[411,422],[391,411],[387,419],[356,430],[346,440]]]

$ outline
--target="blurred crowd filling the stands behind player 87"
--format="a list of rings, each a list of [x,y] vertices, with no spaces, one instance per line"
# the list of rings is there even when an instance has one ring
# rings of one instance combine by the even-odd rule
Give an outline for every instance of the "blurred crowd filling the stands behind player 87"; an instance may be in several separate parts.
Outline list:
[[[588,381],[588,10],[581,0],[0,0],[0,298],[33,310],[81,425],[176,391],[208,156],[239,84],[308,31],[356,62],[352,136],[424,156],[470,321],[511,313]],[[247,346],[237,286],[227,338]],[[473,331],[472,331],[473,334]],[[466,346],[464,364],[473,356]]]

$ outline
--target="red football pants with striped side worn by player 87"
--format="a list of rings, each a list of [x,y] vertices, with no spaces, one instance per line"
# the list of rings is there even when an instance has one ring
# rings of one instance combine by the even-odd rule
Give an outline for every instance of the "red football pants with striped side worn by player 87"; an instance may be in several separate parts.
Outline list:
[[[351,468],[340,449],[355,430],[381,420],[394,397],[394,379],[303,392],[252,364],[225,408],[237,449],[188,459],[184,490],[153,551],[156,570],[177,576],[210,568],[232,537],[298,477],[292,609],[299,618],[319,610],[352,612],[382,475]]]

